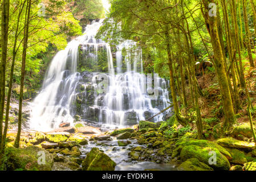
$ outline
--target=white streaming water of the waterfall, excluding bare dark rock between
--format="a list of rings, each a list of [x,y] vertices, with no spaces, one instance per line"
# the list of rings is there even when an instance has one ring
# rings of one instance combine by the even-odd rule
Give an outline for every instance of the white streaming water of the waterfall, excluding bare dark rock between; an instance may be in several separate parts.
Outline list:
[[[72,103],[74,105],[75,98],[79,94],[76,88],[78,88],[81,77],[81,73],[77,72],[80,45],[86,48],[91,56],[90,60],[96,62],[99,47],[104,47],[107,51],[105,61],[108,61],[108,92],[104,94],[103,105],[97,104],[97,100],[102,95],[95,92],[94,105],[89,106],[91,109],[99,110],[99,114],[96,115],[97,122],[108,126],[124,127],[131,123],[135,124],[134,121],[128,122],[131,114],[132,119],[138,122],[147,119],[145,112],[154,115],[168,106],[167,84],[159,77],[155,77],[154,80],[159,90],[159,97],[155,100],[158,106],[152,106],[152,98],[146,92],[146,90],[148,92],[151,90],[145,85],[150,80],[146,80],[147,76],[143,74],[141,49],[132,49],[136,43],[127,40],[117,46],[115,70],[111,47],[108,43],[95,39],[102,22],[103,20],[100,20],[88,25],[82,36],[68,43],[67,47],[59,51],[52,60],[44,78],[43,88],[32,102],[31,129],[50,131],[58,128],[63,122],[70,122],[71,126],[73,125],[73,117],[76,113]],[[123,48],[126,49],[125,56],[122,55]],[[91,50],[94,50],[94,53]],[[99,73],[94,73],[92,79],[94,90],[97,87],[96,77],[98,75]],[[84,107],[84,113],[87,109],[88,107]],[[161,121],[163,117],[164,114],[160,114],[155,121]],[[83,119],[86,120],[86,118]]]

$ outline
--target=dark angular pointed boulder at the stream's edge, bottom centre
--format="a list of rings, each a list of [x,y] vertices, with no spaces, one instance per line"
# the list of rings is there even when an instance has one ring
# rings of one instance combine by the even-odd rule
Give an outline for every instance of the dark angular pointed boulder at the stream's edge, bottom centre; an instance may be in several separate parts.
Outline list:
[[[83,171],[114,171],[116,163],[99,148],[92,148],[83,161]]]

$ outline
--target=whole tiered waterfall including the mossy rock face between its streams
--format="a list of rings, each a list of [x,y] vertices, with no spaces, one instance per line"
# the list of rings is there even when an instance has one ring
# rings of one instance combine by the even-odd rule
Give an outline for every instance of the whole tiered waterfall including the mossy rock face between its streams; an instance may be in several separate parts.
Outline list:
[[[143,74],[142,52],[126,40],[113,47],[95,39],[103,20],[86,27],[50,64],[42,91],[32,103],[31,129],[49,131],[74,118],[108,126],[131,126],[168,106],[166,81]],[[104,74],[103,74],[104,73]],[[102,84],[103,80],[104,83]],[[103,89],[104,92],[101,92]],[[161,121],[165,113],[152,121]]]

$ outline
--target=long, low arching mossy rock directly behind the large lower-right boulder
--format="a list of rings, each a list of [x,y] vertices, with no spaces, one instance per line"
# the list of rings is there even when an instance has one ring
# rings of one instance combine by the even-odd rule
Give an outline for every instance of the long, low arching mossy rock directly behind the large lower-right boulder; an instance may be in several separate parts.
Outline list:
[[[199,147],[212,147],[217,148],[218,151],[221,152],[227,159],[232,159],[232,156],[230,155],[229,151],[227,151],[224,147],[220,146],[219,144],[215,142],[211,142],[208,140],[196,140],[196,139],[190,139],[190,138],[184,138],[177,140],[176,146],[189,146],[189,145],[195,145]]]

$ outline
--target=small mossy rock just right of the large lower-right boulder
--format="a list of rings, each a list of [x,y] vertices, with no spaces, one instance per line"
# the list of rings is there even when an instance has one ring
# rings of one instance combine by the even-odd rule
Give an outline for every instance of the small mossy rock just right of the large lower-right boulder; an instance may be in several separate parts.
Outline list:
[[[230,163],[233,164],[245,164],[247,163],[247,158],[245,152],[238,150],[237,148],[226,148],[227,151],[232,156]]]

